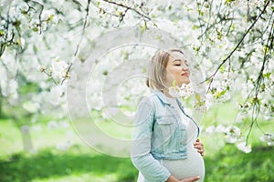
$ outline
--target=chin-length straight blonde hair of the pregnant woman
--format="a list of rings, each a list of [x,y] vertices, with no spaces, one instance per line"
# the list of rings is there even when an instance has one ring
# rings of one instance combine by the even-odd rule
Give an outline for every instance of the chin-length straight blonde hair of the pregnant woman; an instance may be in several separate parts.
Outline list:
[[[183,53],[180,49],[171,49],[169,51],[159,50],[155,53],[153,58],[149,61],[147,68],[146,85],[151,89],[163,90],[165,86],[166,66],[170,58],[170,53]]]

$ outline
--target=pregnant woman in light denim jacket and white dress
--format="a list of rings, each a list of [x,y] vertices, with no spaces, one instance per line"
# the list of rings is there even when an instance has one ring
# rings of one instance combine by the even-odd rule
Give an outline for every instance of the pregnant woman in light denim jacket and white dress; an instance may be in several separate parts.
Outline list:
[[[190,83],[186,56],[178,49],[160,50],[147,71],[147,86],[153,93],[139,104],[132,133],[132,163],[139,170],[138,182],[203,181],[199,127],[184,113],[178,95],[170,92],[174,83]]]

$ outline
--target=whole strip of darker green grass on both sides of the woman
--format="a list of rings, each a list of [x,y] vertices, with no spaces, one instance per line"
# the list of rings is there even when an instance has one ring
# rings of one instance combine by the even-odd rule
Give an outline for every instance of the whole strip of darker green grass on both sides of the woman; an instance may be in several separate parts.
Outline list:
[[[214,157],[205,156],[205,181],[273,181],[273,147],[256,147],[244,154],[232,145]],[[136,181],[137,170],[130,158],[102,155],[84,146],[66,151],[41,149],[24,152],[0,162],[0,181]]]

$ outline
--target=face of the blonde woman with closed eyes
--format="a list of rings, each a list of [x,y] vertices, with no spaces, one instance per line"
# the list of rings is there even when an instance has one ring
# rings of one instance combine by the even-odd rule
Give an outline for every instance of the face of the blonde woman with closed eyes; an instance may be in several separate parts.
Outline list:
[[[172,86],[174,80],[177,86],[189,84],[190,70],[182,53],[172,52],[166,65],[165,84]]]

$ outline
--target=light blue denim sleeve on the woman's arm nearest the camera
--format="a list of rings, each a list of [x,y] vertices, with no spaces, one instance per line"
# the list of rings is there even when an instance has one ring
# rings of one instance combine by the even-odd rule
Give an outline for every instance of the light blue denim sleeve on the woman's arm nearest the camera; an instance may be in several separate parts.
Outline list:
[[[153,115],[149,99],[138,106],[132,132],[132,163],[148,181],[164,182],[171,174],[151,154]]]

